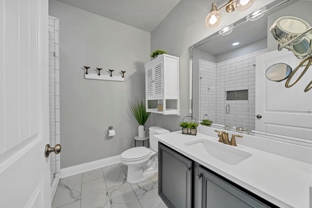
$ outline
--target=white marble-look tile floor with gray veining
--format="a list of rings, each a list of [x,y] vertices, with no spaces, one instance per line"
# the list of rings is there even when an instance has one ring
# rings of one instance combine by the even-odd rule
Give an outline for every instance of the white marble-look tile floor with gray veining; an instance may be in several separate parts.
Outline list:
[[[158,196],[158,175],[144,182],[126,182],[127,166],[113,164],[61,178],[52,208],[167,208]]]

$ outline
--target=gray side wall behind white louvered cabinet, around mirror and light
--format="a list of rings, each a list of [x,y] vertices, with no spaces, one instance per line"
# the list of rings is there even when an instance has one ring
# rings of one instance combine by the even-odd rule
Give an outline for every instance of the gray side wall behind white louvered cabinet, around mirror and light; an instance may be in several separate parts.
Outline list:
[[[227,14],[222,10],[222,21],[217,28],[209,29],[204,24],[204,19],[211,10],[211,3],[204,0],[181,0],[167,17],[151,33],[151,51],[163,49],[170,55],[180,57],[180,116],[157,114],[152,121],[168,130],[180,130],[179,123],[184,116],[189,115],[189,69],[188,47],[204,39],[224,26],[249,15],[250,12],[261,8],[273,0],[255,1],[252,8],[243,12]],[[218,1],[219,5],[228,1]]]

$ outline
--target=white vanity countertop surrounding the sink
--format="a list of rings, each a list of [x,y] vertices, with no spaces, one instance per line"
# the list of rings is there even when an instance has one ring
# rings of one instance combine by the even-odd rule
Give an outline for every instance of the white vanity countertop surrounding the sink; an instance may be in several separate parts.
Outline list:
[[[238,143],[238,146],[231,146],[231,148],[251,153],[252,156],[239,164],[231,165],[209,155],[204,148],[201,150],[199,146],[185,145],[197,139],[208,139],[221,144],[217,141],[217,135],[216,137],[199,133],[197,136],[182,135],[179,131],[156,135],[156,137],[161,143],[182,155],[186,155],[279,207],[311,208],[312,206],[311,164]]]

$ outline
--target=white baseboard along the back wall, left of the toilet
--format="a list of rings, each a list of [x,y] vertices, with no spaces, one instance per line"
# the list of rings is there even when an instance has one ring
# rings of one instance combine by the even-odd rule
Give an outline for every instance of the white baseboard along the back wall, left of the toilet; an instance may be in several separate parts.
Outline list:
[[[60,178],[76,175],[79,173],[83,173],[86,171],[92,171],[97,168],[102,168],[104,166],[109,166],[112,164],[116,164],[120,162],[120,155],[116,155],[113,157],[108,157],[104,159],[99,159],[96,161],[80,164],[77,166],[71,166],[69,168],[60,169]]]

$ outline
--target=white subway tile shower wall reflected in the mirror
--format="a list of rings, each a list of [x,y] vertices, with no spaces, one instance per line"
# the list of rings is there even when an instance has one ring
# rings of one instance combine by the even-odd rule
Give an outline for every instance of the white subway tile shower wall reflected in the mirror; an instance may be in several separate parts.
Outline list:
[[[255,128],[256,55],[267,49],[223,62],[199,60],[199,118],[208,114],[214,123]],[[247,101],[227,101],[227,91],[248,90]],[[229,110],[226,112],[226,107]]]

